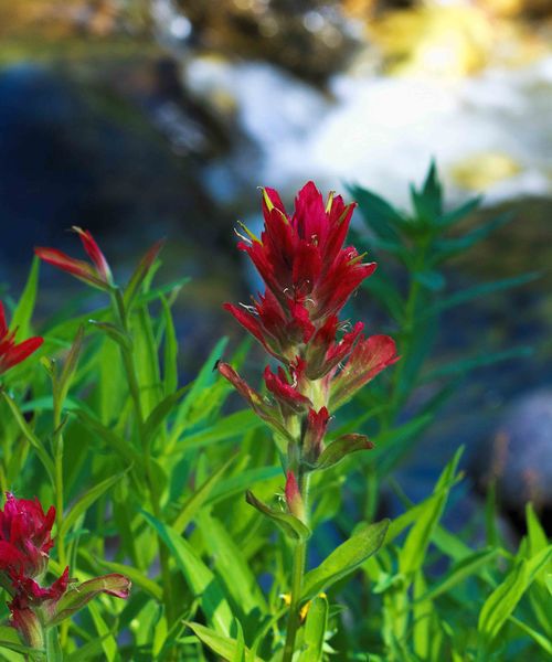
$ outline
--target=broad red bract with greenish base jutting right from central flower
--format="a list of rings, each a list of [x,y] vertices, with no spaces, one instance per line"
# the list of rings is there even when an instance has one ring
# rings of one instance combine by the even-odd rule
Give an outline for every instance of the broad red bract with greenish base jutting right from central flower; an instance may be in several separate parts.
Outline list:
[[[359,340],[344,367],[331,381],[331,409],[344,404],[359,388],[399,359],[395,342],[389,335],[372,335]]]

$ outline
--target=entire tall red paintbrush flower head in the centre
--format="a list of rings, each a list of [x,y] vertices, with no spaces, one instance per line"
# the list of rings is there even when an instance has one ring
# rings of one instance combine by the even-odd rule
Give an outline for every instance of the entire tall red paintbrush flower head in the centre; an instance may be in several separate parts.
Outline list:
[[[304,517],[302,477],[337,463],[348,452],[372,448],[363,435],[344,435],[329,447],[325,436],[333,413],[364,384],[397,360],[386,335],[365,338],[339,313],[374,269],[344,246],[353,204],[340,195],[327,202],[312,182],[299,191],[289,215],[273,189],[263,189],[265,226],[261,238],[242,225],[238,248],[246,252],[266,290],[252,306],[225,303],[236,320],[284,365],[266,367],[269,398],[254,391],[230,365],[219,370],[276,431],[287,452],[286,503]]]

